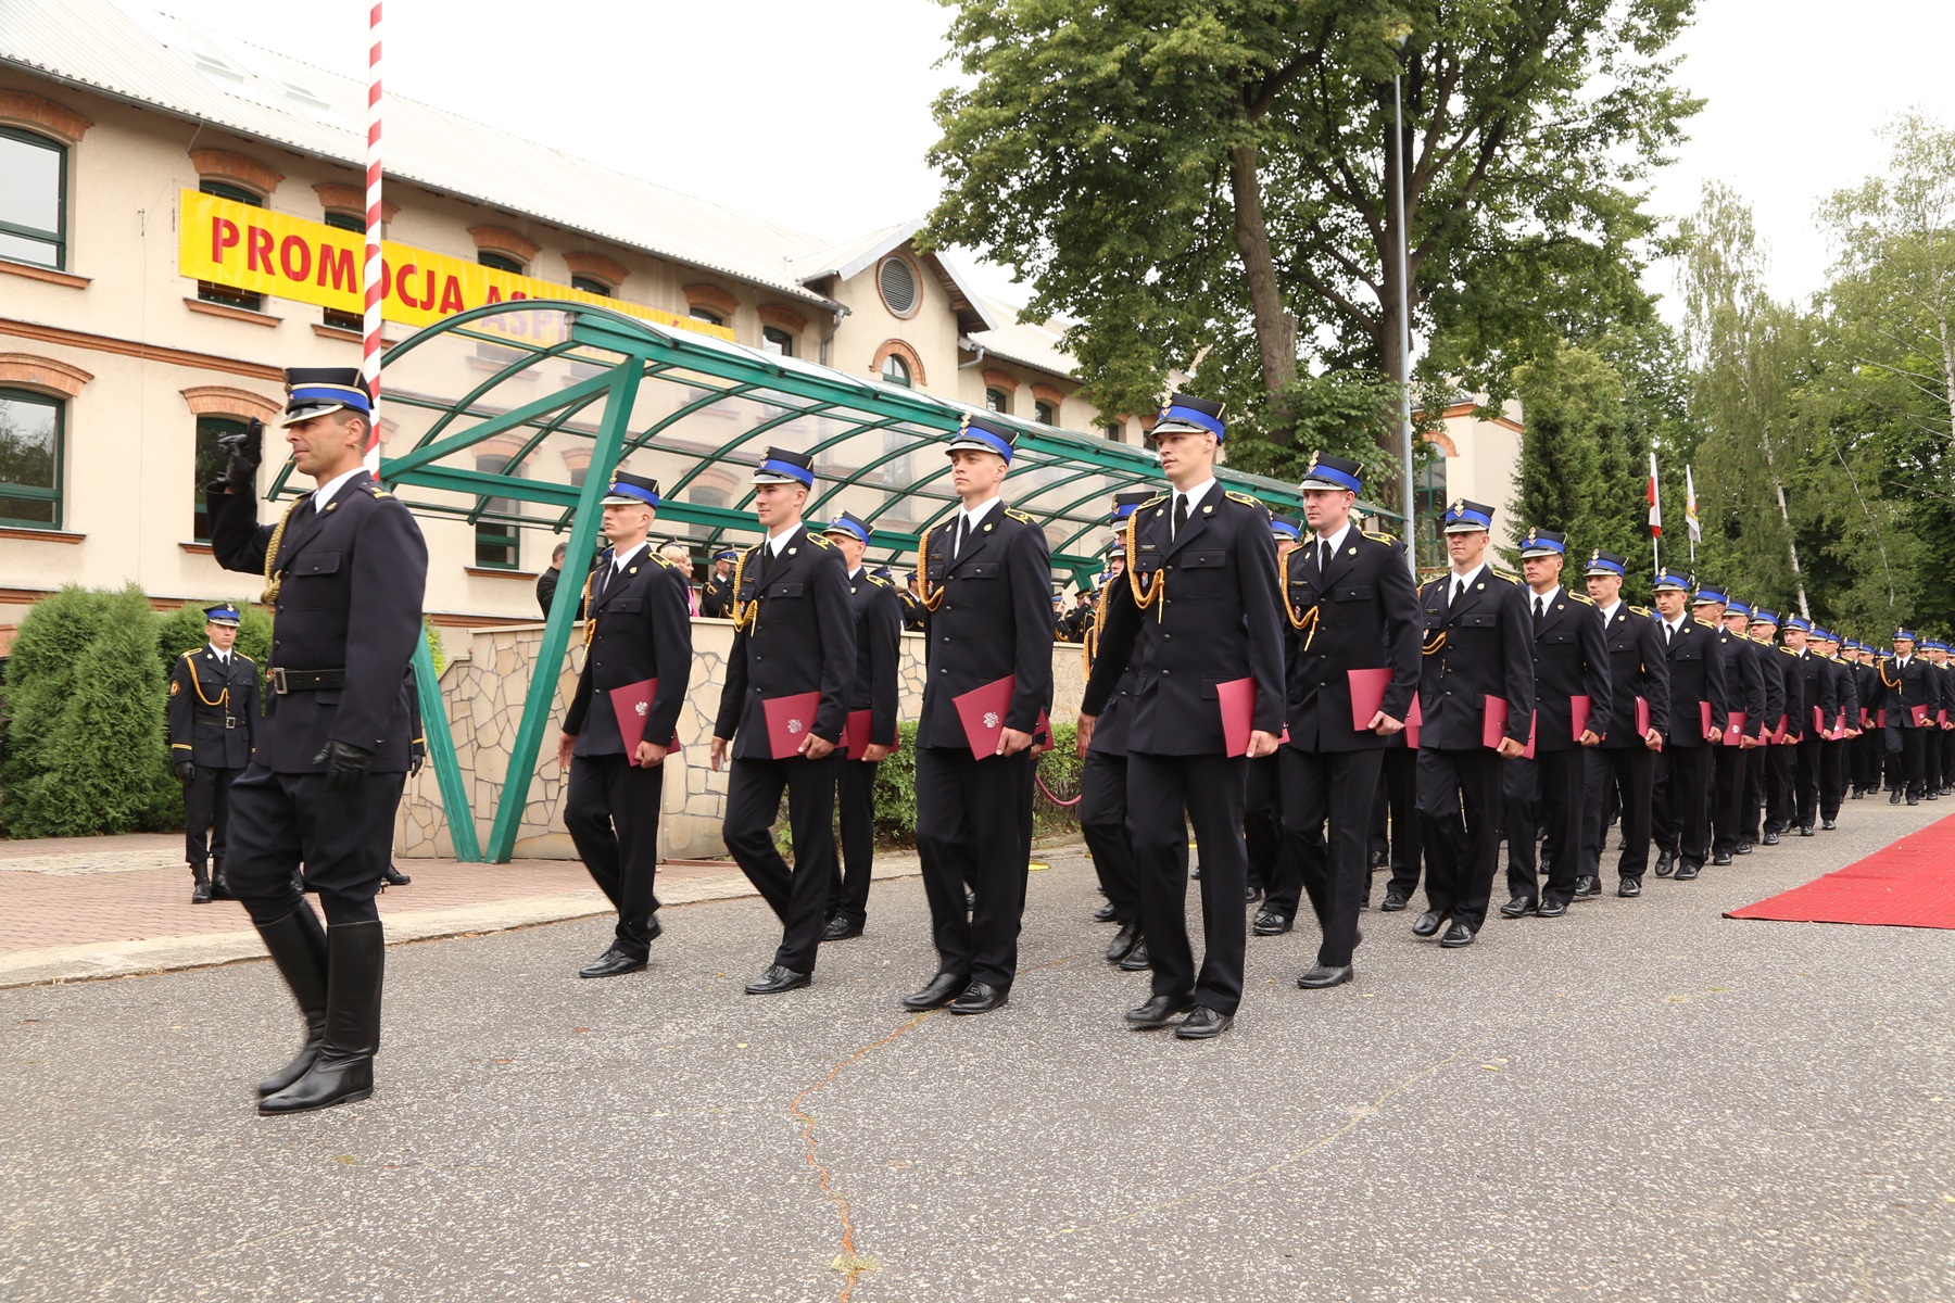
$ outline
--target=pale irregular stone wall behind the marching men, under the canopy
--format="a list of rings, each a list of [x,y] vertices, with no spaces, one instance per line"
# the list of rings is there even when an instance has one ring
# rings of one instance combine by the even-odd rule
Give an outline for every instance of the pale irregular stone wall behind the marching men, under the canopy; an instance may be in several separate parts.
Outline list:
[[[502,776],[508,774],[510,750],[522,723],[522,703],[530,692],[536,652],[543,645],[543,625],[504,625],[475,629],[467,635],[446,633],[448,668],[442,672],[442,701],[448,707],[448,727],[456,736],[456,756],[461,764],[461,783],[469,793],[475,817],[475,836],[489,840],[497,801],[502,795]],[[725,619],[692,621],[692,682],[686,705],[678,711],[678,742],[682,754],[665,762],[665,811],[659,819],[661,860],[696,860],[723,856],[719,822],[725,817],[727,772],[708,768],[714,717],[719,711],[719,690],[725,686],[725,658],[733,647],[733,625]],[[516,858],[575,860],[569,834],[563,830],[565,774],[557,768],[557,733],[577,676],[583,672],[583,635],[571,635],[571,654],[557,674],[557,701],[543,731],[536,758],[536,778],[516,830]],[[1069,721],[1079,711],[1085,690],[1079,647],[1060,643],[1052,656],[1052,717]],[[901,654],[903,719],[915,719],[923,707],[923,635],[903,635]],[[440,803],[440,783],[434,766],[424,766],[407,779],[401,815],[395,828],[395,854],[403,858],[452,856],[448,822]]]

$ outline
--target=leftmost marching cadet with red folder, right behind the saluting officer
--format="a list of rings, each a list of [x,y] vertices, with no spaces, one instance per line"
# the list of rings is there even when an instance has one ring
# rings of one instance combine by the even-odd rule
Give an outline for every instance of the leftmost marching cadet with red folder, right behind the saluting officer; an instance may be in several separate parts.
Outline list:
[[[579,977],[643,969],[665,930],[655,891],[659,807],[692,672],[684,574],[645,543],[659,481],[618,471],[600,506],[610,547],[585,580],[585,668],[563,715],[557,764],[569,774],[563,826],[618,910],[618,928]]]

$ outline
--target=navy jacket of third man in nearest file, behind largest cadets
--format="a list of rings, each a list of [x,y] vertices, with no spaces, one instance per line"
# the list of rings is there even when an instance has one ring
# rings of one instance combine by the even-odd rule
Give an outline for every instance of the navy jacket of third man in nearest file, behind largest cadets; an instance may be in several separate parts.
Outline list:
[[[1482,746],[1486,697],[1507,701],[1507,733],[1527,746],[1535,715],[1533,617],[1527,588],[1482,565],[1460,600],[1451,600],[1453,572],[1419,592],[1425,662],[1419,674],[1419,746]]]

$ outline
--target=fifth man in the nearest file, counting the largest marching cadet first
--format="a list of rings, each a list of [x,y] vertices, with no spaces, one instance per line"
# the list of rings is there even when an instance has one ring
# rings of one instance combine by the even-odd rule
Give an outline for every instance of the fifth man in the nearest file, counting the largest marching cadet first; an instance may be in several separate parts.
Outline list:
[[[1589,715],[1601,742],[1582,754],[1587,785],[1582,793],[1578,897],[1601,881],[1611,783],[1623,793],[1623,854],[1615,863],[1615,895],[1640,897],[1642,873],[1650,867],[1650,799],[1656,756],[1670,729],[1670,660],[1664,656],[1658,621],[1648,609],[1623,602],[1627,572],[1629,559],[1605,551],[1595,551],[1586,568],[1589,600],[1595,602],[1603,649],[1609,652],[1609,709]]]

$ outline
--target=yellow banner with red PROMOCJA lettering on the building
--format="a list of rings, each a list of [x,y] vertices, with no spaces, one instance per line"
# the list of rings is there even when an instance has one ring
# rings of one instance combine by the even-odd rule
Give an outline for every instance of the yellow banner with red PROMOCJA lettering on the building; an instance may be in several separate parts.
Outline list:
[[[176,270],[199,281],[248,289],[276,299],[297,299],[340,313],[362,315],[360,262],[366,236],[303,217],[287,217],[235,199],[182,191]],[[643,320],[698,330],[731,340],[733,332],[696,316],[661,313],[637,303],[622,303],[569,285],[551,285],[534,275],[485,268],[479,262],[434,254],[424,248],[381,242],[381,316],[403,326],[428,326],[491,303],[510,299],[557,299],[594,303]],[[479,322],[485,334],[504,334],[528,342],[557,342],[563,318],[555,313],[512,313]],[[551,338],[538,338],[547,334]]]

